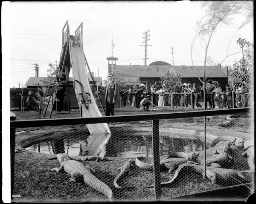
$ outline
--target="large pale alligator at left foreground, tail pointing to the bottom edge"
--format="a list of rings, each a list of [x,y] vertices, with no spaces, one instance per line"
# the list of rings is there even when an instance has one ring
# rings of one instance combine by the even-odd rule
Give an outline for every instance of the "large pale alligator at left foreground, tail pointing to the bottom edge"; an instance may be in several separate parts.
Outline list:
[[[71,175],[70,181],[76,181],[76,177],[82,175],[84,177],[84,183],[86,183],[93,189],[103,193],[111,201],[112,190],[90,172],[90,170],[92,170],[90,166],[86,165],[84,167],[81,162],[71,160],[70,157],[65,153],[57,154],[57,158],[61,166],[59,168],[53,168],[51,169],[51,171],[56,171],[57,173],[59,173],[60,170],[64,168],[65,172]]]

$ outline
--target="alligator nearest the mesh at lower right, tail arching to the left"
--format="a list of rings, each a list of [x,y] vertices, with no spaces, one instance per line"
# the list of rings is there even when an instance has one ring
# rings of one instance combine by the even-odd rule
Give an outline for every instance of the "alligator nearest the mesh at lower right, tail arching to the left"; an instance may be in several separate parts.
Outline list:
[[[186,168],[185,168],[186,167]],[[192,163],[191,161],[185,164],[181,164],[174,175],[169,181],[162,182],[161,185],[171,184],[175,181],[178,176],[183,176],[185,174],[192,175],[192,171],[198,172],[203,175],[204,166],[196,163]],[[247,176],[244,173],[248,173],[248,171],[239,171],[233,169],[224,169],[218,168],[215,165],[211,167],[207,167],[206,176],[212,182],[212,184],[225,184],[227,181],[237,181],[242,179],[247,179]],[[153,187],[154,185],[150,185],[148,187]]]

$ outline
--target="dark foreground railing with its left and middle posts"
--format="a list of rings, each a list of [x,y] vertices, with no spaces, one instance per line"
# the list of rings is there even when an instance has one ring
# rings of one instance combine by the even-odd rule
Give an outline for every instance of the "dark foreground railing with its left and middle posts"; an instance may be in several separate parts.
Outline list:
[[[172,118],[188,118],[201,117],[212,115],[226,115],[234,113],[246,113],[253,110],[252,108],[240,109],[218,109],[206,111],[191,111],[191,112],[172,112],[161,114],[145,115],[122,115],[122,116],[107,116],[107,117],[92,117],[92,118],[63,118],[63,119],[43,119],[43,120],[15,120],[15,115],[11,115],[11,186],[13,189],[14,181],[14,160],[15,160],[15,131],[16,128],[24,127],[40,127],[40,126],[61,126],[75,124],[99,124],[109,122],[128,122],[152,120],[152,149],[153,149],[153,170],[154,170],[154,195],[155,199],[161,197],[160,187],[160,155],[159,155],[159,120]]]

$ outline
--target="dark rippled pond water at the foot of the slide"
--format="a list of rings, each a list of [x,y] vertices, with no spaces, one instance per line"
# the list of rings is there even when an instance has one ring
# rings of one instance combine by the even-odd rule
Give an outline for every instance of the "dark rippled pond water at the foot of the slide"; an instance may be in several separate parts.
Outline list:
[[[172,152],[195,152],[202,150],[203,141],[191,139],[191,135],[170,133],[169,136],[159,133],[160,155],[170,155]],[[34,152],[56,154],[66,152],[68,155],[84,155],[88,137],[61,138],[38,142],[26,149]],[[113,134],[107,144],[101,145],[100,156],[106,157],[138,157],[152,156],[151,134],[129,134],[120,136]]]

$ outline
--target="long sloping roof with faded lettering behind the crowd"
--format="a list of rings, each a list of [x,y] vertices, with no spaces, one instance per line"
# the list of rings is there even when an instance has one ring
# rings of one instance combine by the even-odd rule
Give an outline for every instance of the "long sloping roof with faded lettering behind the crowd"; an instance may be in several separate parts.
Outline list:
[[[216,67],[217,66],[206,66],[206,76],[211,72],[209,78],[227,78],[227,69]],[[204,66],[113,65],[113,69],[114,71],[120,72],[121,75],[125,78],[162,78],[164,76],[165,70],[168,69],[174,69],[177,73],[180,73],[181,78],[198,78],[198,76],[200,78],[204,77]]]

